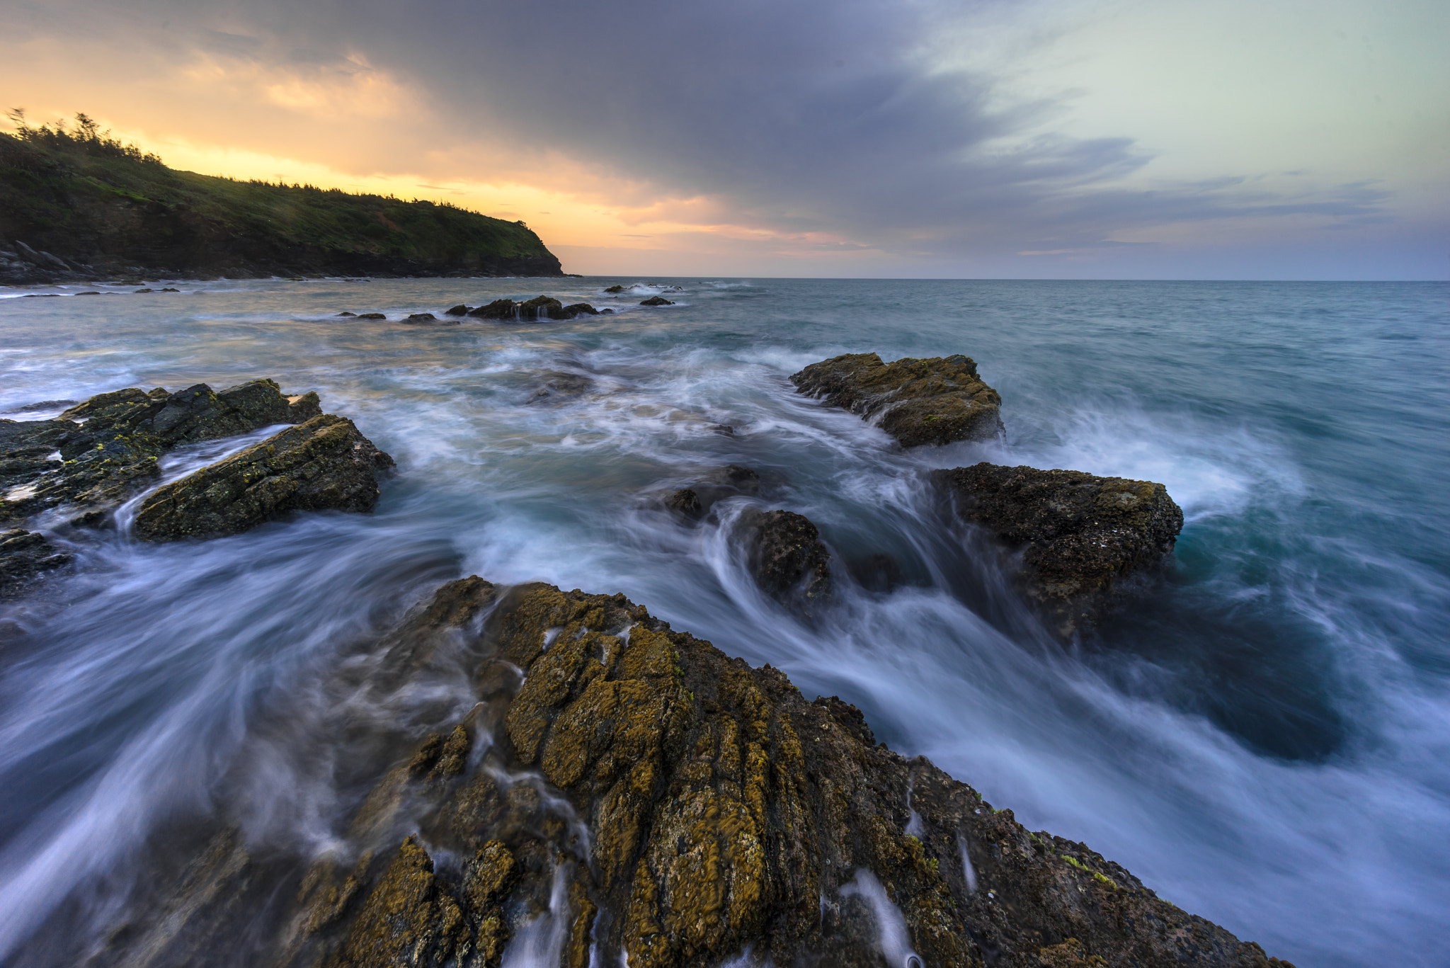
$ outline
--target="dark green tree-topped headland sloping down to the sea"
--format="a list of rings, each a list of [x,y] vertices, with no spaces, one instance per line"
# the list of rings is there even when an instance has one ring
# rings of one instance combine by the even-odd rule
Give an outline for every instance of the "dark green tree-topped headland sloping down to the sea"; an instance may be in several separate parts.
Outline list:
[[[476,212],[232,181],[0,135],[0,283],[296,274],[563,270],[526,226]]]

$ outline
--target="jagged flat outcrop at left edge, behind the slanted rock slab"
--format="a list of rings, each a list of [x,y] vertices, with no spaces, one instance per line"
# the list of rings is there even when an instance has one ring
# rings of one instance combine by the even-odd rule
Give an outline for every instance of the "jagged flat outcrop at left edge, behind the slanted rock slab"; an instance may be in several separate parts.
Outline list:
[[[160,473],[157,459],[173,447],[320,412],[316,393],[284,396],[264,379],[220,392],[206,383],[177,393],[128,387],[97,393],[59,419],[0,421],[0,482],[7,485],[0,521],[58,505],[113,506]]]

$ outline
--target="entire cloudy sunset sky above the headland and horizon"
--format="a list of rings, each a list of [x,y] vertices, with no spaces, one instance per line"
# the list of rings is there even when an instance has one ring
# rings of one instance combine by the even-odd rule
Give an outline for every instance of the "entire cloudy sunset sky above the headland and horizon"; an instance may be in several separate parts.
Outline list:
[[[1446,0],[7,0],[167,164],[522,219],[567,271],[1450,279]]]

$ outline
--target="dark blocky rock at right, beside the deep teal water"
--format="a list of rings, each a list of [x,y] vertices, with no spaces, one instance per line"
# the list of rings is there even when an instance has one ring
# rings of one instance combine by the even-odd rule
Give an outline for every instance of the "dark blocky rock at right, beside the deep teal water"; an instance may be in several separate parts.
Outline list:
[[[1151,480],[980,463],[938,470],[956,512],[1021,549],[1019,591],[1061,639],[1092,628],[1124,582],[1157,569],[1183,511]]]

